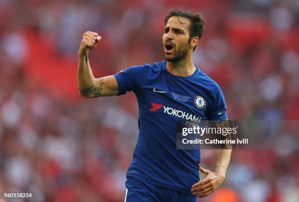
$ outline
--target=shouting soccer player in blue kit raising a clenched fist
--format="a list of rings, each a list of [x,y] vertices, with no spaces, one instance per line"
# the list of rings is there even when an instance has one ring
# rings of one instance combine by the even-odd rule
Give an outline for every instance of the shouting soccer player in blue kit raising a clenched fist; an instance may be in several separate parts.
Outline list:
[[[199,167],[199,150],[176,149],[179,120],[227,120],[219,86],[192,62],[204,30],[199,13],[171,10],[165,18],[162,62],[129,67],[94,78],[88,53],[101,37],[86,32],[78,51],[79,92],[87,98],[133,91],[139,107],[139,136],[128,168],[125,202],[195,202],[225,178],[231,150],[217,152],[214,172]],[[199,171],[206,177],[199,181]]]

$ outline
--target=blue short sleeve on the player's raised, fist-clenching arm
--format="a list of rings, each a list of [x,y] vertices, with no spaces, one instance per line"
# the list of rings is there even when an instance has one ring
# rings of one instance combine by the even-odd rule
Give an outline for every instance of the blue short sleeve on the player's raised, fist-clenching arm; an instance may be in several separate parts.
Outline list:
[[[138,84],[136,80],[140,76],[142,68],[143,66],[132,66],[114,74],[118,83],[117,95],[126,94],[128,91],[137,91]]]

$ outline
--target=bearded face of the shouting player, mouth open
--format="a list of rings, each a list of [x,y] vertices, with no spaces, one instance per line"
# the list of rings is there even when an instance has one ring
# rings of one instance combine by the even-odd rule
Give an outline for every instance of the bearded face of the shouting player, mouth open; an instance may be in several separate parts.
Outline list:
[[[190,19],[184,17],[172,16],[169,18],[162,38],[165,60],[176,62],[188,55],[190,51],[190,23]]]

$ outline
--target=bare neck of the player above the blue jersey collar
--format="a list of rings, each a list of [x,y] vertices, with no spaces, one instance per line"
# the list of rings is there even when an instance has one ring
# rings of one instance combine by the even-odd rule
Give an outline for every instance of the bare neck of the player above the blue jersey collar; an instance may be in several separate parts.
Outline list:
[[[195,72],[196,67],[193,65],[192,57],[187,55],[184,59],[177,62],[167,61],[166,69],[176,76],[190,76]]]

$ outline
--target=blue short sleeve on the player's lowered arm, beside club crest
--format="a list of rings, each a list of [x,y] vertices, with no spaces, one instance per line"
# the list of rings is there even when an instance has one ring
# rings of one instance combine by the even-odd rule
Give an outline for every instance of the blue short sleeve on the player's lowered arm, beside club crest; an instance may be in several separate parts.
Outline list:
[[[220,87],[216,85],[213,95],[213,103],[208,110],[207,117],[209,120],[226,120],[226,103],[224,99],[223,92]]]

